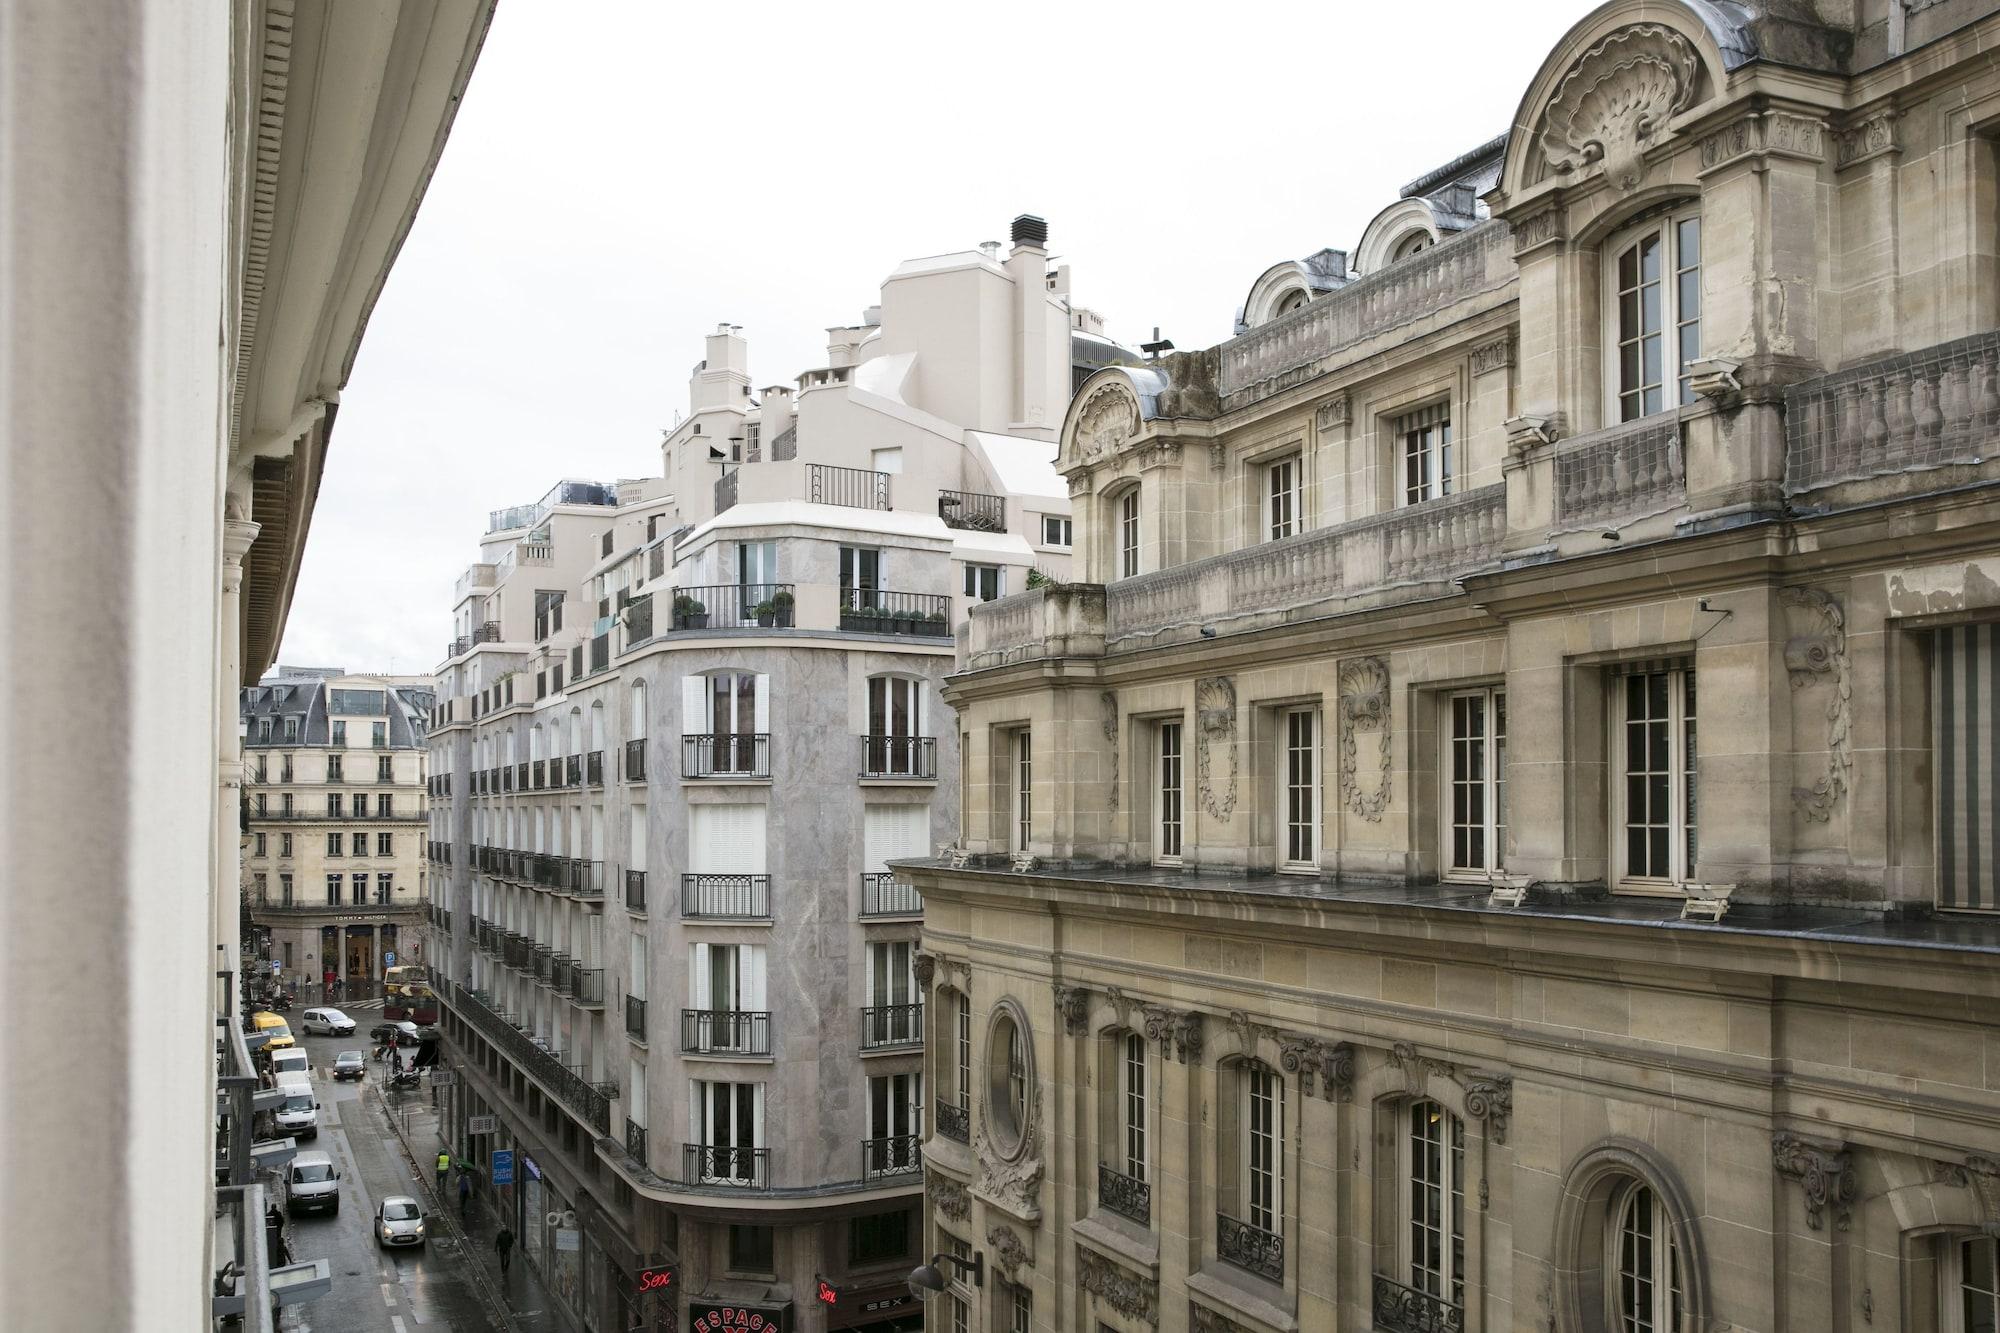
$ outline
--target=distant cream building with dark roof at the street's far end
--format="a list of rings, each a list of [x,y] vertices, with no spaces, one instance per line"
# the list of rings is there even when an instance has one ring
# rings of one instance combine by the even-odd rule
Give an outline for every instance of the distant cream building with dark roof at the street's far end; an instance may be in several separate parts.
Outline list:
[[[422,965],[430,679],[276,666],[242,693],[244,903],[290,983]]]

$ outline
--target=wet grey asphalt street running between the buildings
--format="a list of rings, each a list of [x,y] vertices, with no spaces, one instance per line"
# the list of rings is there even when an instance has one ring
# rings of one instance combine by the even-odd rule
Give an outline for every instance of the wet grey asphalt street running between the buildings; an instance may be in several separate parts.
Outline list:
[[[360,1025],[354,1037],[300,1037],[312,1057],[312,1087],[320,1101],[320,1137],[300,1149],[320,1149],[334,1159],[340,1171],[340,1211],[286,1221],[294,1257],[326,1259],[334,1287],[318,1301],[286,1309],[282,1327],[292,1333],[560,1327],[548,1313],[540,1283],[518,1255],[502,1289],[488,1239],[490,1219],[474,1209],[472,1245],[478,1253],[470,1253],[456,1195],[440,1211],[430,1193],[430,1173],[424,1171],[418,1179],[412,1169],[390,1115],[406,1097],[422,1099],[428,1109],[428,1085],[416,1093],[384,1095],[384,1067],[372,1061],[362,1083],[334,1083],[336,1055],[370,1049],[366,1033],[380,1021],[380,1005],[354,1005],[348,1015]],[[418,1151],[424,1149],[426,1145],[418,1145]],[[424,1247],[384,1251],[376,1245],[374,1209],[386,1195],[418,1199],[430,1233]]]

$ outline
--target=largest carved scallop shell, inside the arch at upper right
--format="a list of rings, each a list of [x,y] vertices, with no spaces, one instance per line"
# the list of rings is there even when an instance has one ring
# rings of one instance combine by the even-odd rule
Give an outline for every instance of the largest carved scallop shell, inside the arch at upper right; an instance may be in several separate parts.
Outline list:
[[[1664,24],[1632,24],[1586,50],[1542,112],[1542,154],[1560,176],[1592,166],[1618,190],[1646,178],[1646,150],[1694,100],[1702,58]]]

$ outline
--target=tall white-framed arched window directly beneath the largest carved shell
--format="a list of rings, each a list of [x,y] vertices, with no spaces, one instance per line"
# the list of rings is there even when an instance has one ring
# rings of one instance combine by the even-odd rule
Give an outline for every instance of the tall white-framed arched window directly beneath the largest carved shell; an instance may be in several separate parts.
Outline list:
[[[1702,354],[1702,218],[1648,218],[1604,248],[1606,414],[1638,420],[1694,402]]]

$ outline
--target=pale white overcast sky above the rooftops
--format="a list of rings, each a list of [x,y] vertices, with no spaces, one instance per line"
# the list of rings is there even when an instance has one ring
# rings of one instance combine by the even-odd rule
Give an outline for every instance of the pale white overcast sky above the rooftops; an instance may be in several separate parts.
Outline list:
[[[1584,0],[502,0],[334,426],[280,660],[424,673],[486,510],[654,476],[702,334],[826,360],[904,258],[1048,218],[1072,298],[1220,342],[1500,134]]]

